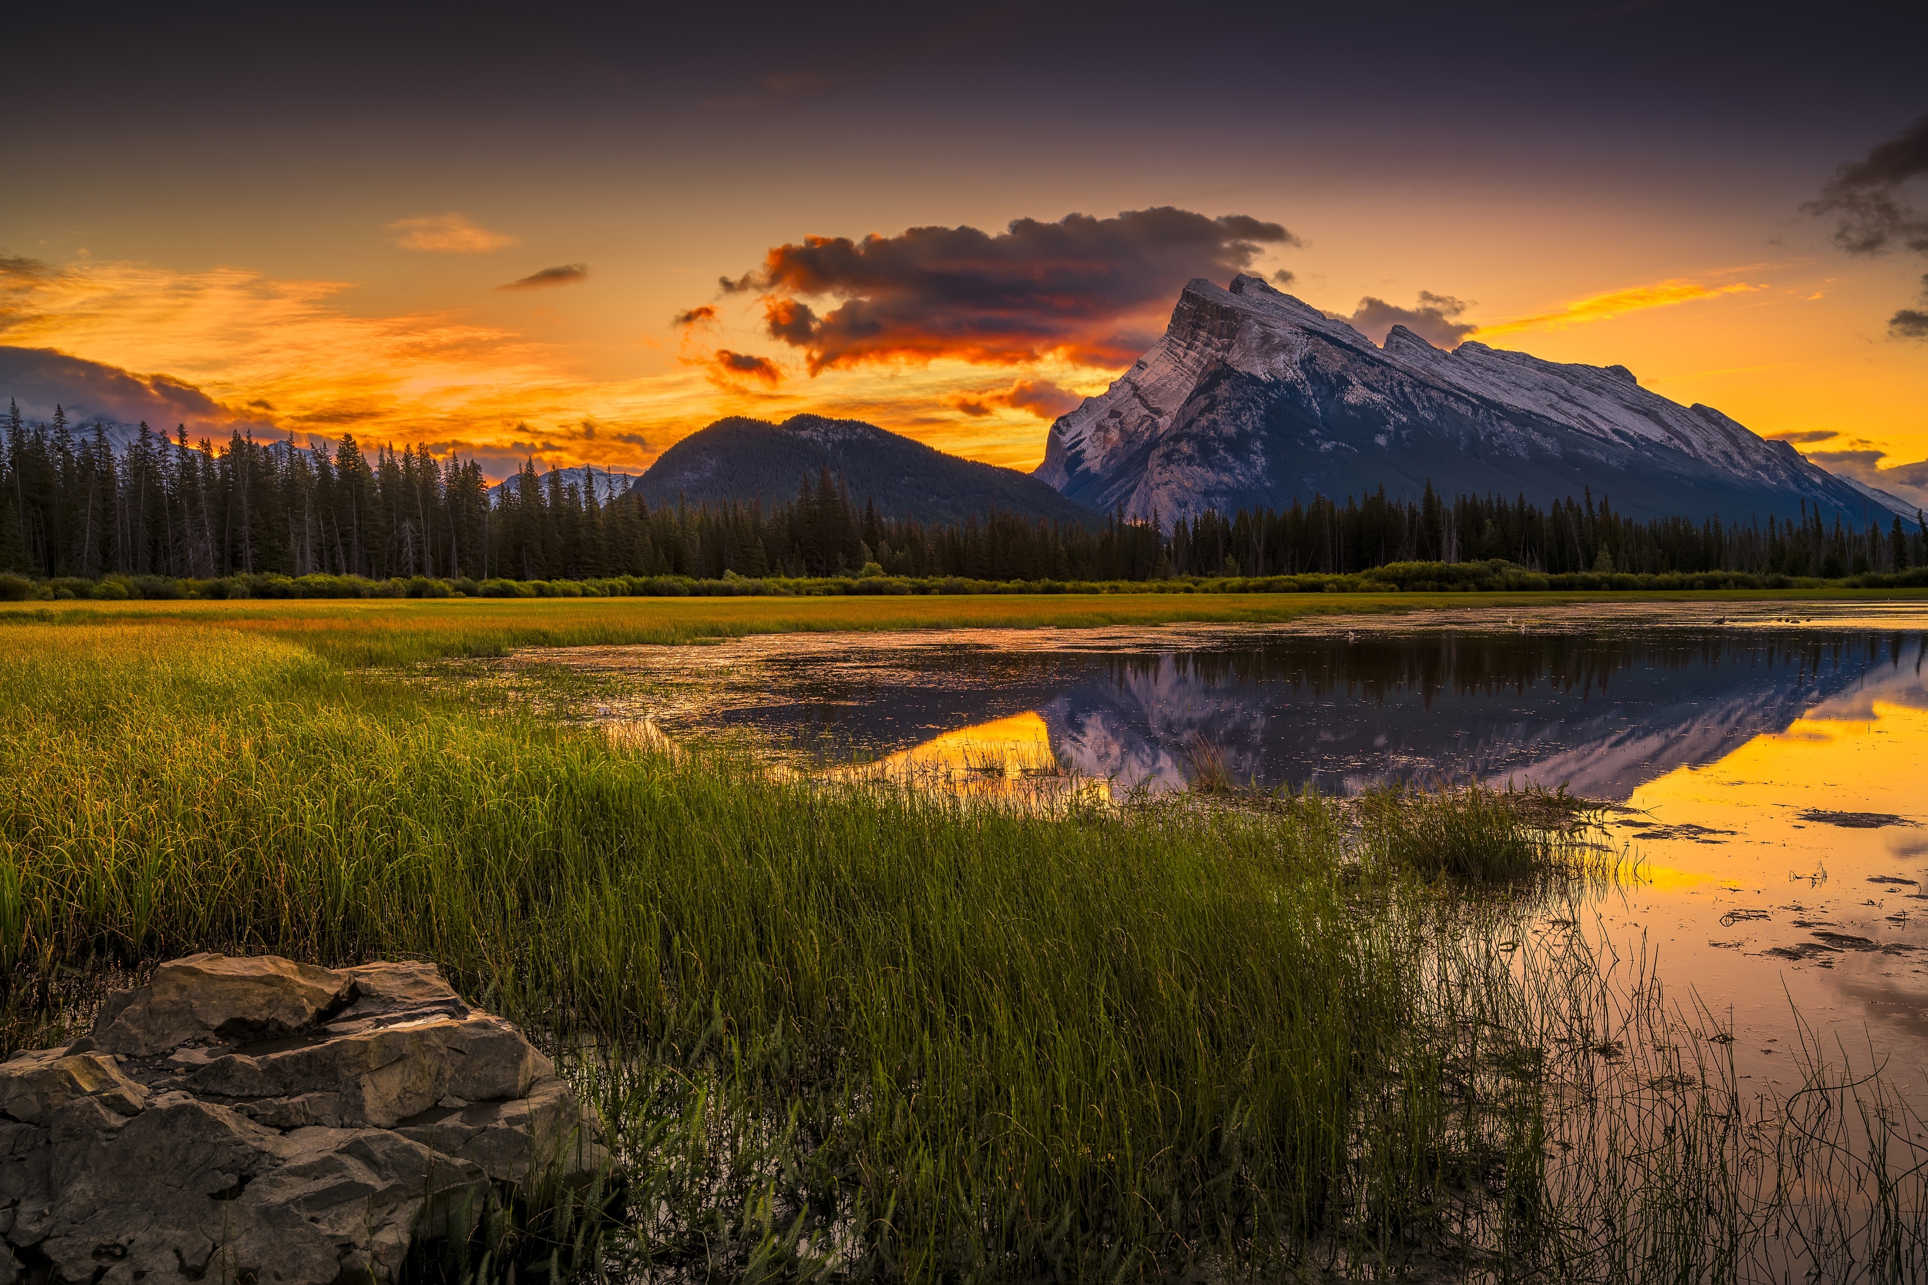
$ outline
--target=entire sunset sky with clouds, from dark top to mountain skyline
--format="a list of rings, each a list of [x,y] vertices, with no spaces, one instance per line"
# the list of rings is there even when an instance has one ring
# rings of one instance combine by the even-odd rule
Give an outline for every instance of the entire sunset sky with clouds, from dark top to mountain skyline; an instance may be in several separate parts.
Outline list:
[[[1332,8],[10,19],[0,397],[497,476],[800,410],[1030,468],[1249,270],[1928,499],[1924,19]]]

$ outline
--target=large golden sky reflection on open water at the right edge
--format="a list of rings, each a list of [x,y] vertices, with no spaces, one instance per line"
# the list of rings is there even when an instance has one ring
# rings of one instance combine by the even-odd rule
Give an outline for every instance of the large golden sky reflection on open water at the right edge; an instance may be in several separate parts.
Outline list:
[[[1876,676],[1876,692],[1677,767],[1616,817],[1647,865],[1608,898],[1604,934],[1623,954],[1654,952],[1677,1002],[1733,1021],[1743,1077],[1799,1079],[1799,1011],[1830,1058],[1882,1062],[1922,1088],[1928,699],[1907,678]]]

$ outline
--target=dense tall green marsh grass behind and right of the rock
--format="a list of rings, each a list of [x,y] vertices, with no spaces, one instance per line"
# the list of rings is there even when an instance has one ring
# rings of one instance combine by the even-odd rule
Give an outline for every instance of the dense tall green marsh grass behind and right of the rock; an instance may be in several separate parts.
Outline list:
[[[1396,932],[1334,927],[1313,826],[769,780],[270,640],[8,642],[10,1002],[202,948],[432,957],[594,1050],[673,1262],[777,1252],[719,1241],[758,1208],[785,1254],[910,1275],[1276,1245],[1344,1181],[1359,1033],[1413,983]]]

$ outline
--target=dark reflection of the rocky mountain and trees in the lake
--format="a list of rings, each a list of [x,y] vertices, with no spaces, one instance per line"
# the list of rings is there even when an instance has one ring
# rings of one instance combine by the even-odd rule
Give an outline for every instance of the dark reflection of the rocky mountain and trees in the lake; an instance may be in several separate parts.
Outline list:
[[[1064,769],[1116,790],[1184,788],[1195,747],[1209,746],[1238,782],[1261,788],[1479,778],[1620,801],[1868,682],[1918,688],[1924,649],[1916,630],[1814,628],[1380,626],[1195,634],[1165,647],[1143,632],[1080,642],[999,630],[924,645],[844,638],[835,653],[792,645],[748,667],[738,655],[733,699],[667,711],[663,726],[750,728],[792,761],[835,765],[916,759],[927,742],[945,753],[979,726],[987,746],[1001,724],[1035,713]],[[1035,721],[1022,726],[1035,753]]]

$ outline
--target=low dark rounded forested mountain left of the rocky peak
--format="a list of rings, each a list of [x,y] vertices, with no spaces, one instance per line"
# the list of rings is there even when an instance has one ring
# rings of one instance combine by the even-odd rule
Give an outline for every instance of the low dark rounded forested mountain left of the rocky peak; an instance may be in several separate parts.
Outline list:
[[[962,522],[993,509],[1028,518],[1099,522],[1099,514],[1016,468],[945,455],[862,420],[796,414],[783,424],[731,416],[690,433],[636,480],[650,505],[796,499],[821,470],[843,480],[856,505],[887,518]]]

